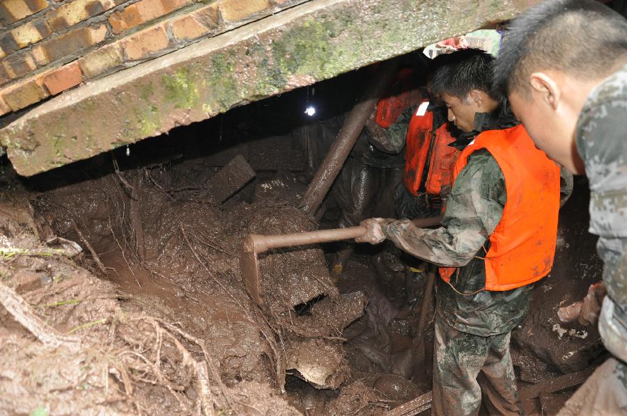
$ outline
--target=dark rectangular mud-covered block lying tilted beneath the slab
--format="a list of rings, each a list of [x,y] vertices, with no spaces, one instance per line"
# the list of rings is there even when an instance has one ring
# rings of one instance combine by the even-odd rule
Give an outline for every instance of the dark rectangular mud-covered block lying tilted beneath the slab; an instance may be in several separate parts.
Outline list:
[[[256,176],[246,159],[238,154],[209,179],[207,191],[218,204],[226,201]]]

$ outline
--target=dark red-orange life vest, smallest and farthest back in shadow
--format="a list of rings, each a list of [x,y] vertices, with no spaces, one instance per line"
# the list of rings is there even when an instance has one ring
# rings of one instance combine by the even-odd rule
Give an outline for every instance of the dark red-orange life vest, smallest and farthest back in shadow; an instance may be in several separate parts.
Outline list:
[[[377,103],[377,123],[384,129],[392,125],[405,109],[416,104],[412,97],[412,69],[403,68],[398,74],[394,84],[388,88],[388,97],[382,98]],[[396,93],[401,91],[400,93]]]

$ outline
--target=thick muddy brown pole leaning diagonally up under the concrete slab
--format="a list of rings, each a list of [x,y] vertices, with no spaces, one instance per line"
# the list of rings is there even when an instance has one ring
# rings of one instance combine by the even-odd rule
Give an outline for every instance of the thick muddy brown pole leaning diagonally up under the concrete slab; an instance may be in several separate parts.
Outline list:
[[[350,150],[357,142],[359,134],[362,133],[366,121],[368,121],[380,97],[385,93],[387,86],[392,82],[397,67],[398,59],[380,63],[372,78],[370,88],[367,88],[362,99],[355,104],[353,110],[346,117],[337,138],[316,171],[314,179],[311,179],[307,193],[300,200],[299,207],[307,214],[313,216],[318,211],[339,171],[344,166]]]

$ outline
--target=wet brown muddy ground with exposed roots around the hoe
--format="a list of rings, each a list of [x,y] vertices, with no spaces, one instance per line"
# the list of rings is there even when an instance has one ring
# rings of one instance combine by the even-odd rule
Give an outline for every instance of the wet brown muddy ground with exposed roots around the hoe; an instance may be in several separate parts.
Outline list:
[[[264,303],[251,301],[242,239],[333,227],[337,213],[330,204],[320,225],[295,208],[307,175],[293,132],[211,123],[212,141],[196,125],[31,179],[4,166],[0,413],[380,415],[431,390],[433,302],[412,368],[420,302],[407,304],[392,248],[391,281],[361,248],[337,285],[336,246],[272,250]],[[236,154],[256,178],[219,204],[206,184]],[[586,189],[579,179],[554,269],[513,332],[522,388],[604,356],[595,328],[557,321],[601,278]],[[555,414],[572,392],[525,408]]]

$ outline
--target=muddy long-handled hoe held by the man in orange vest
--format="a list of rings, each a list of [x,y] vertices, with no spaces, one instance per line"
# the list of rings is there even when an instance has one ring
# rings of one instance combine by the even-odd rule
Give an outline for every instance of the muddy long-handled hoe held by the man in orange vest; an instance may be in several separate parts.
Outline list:
[[[416,227],[426,228],[440,224],[442,217],[419,218],[412,222]],[[253,301],[261,306],[261,270],[259,255],[272,248],[306,246],[308,244],[330,243],[332,241],[350,240],[361,237],[366,227],[336,228],[334,230],[318,230],[297,232],[295,234],[259,235],[249,234],[242,243],[240,251],[240,269],[244,275],[244,284]]]

